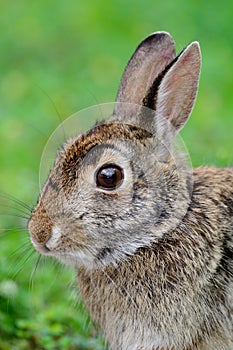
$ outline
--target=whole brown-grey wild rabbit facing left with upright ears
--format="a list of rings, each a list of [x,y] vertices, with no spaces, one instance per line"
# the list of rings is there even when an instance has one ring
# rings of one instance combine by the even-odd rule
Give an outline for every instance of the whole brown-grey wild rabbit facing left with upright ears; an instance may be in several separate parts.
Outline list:
[[[233,168],[189,169],[174,150],[201,53],[167,32],[143,40],[109,119],[69,139],[28,223],[75,268],[112,350],[233,349]]]

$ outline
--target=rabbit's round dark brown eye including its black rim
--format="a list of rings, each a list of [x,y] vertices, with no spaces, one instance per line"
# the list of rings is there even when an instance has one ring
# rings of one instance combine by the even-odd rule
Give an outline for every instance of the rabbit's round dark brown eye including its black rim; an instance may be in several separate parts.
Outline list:
[[[115,164],[105,164],[96,174],[96,185],[105,190],[114,190],[122,184],[123,170]]]

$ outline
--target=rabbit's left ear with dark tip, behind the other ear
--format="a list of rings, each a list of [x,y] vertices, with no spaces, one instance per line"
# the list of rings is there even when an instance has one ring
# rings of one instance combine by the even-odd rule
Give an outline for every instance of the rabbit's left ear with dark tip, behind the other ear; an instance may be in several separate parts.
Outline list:
[[[170,34],[157,32],[143,40],[125,68],[116,102],[142,105],[154,80],[175,57],[175,44]],[[123,105],[116,103],[113,114],[117,120],[125,117],[122,109]]]

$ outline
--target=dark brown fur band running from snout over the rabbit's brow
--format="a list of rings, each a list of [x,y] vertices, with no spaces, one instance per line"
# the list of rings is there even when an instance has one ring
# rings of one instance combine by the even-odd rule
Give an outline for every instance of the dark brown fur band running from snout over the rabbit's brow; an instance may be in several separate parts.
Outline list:
[[[86,134],[70,139],[58,152],[40,198],[46,200],[46,198],[57,196],[60,191],[70,193],[79,175],[81,163],[96,146],[110,141],[116,144],[117,141],[124,140],[144,144],[151,137],[150,132],[135,125],[108,123],[98,124]]]

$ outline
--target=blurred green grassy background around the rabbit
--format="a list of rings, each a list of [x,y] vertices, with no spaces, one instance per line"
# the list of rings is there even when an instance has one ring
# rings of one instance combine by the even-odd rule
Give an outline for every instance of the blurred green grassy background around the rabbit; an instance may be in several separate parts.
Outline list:
[[[52,131],[112,102],[133,50],[157,30],[169,31],[178,51],[201,44],[199,96],[182,131],[193,165],[233,163],[232,1],[0,0],[0,191],[36,202]],[[17,204],[1,197],[0,205],[0,349],[103,349],[73,272],[42,259],[32,276],[26,222],[6,215]]]

